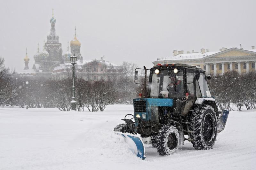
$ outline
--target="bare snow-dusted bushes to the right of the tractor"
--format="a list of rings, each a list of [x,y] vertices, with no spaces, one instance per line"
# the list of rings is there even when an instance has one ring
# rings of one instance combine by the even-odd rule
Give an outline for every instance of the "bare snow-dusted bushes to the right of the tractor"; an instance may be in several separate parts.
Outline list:
[[[234,103],[237,110],[242,106],[246,109],[256,109],[256,73],[240,75],[236,71],[224,75],[212,76],[208,80],[209,87],[220,109],[232,110]]]

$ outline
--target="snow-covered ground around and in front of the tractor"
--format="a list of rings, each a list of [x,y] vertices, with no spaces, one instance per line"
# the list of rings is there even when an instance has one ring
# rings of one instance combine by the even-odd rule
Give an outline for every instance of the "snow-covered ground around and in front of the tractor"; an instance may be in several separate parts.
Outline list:
[[[256,169],[256,110],[229,114],[212,150],[197,151],[185,141],[170,156],[146,145],[137,158],[112,132],[132,105],[104,112],[0,108],[0,169]]]

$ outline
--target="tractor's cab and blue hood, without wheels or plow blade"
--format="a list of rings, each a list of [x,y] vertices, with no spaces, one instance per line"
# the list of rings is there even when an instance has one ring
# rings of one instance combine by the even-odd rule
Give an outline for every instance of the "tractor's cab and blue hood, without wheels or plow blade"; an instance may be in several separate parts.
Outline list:
[[[143,97],[133,99],[135,117],[164,123],[173,117],[186,116],[197,98],[209,98],[207,102],[211,104],[212,96],[207,83],[210,76],[205,76],[200,67],[158,64],[149,72],[148,88],[143,84]],[[137,73],[135,71],[135,83],[138,83]],[[212,105],[218,111],[215,102]]]

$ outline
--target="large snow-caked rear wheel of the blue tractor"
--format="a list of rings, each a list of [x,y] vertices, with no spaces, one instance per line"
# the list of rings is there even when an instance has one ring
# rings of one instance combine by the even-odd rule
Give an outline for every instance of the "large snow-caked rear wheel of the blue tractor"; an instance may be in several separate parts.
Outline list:
[[[190,118],[190,138],[196,150],[212,149],[217,137],[217,119],[210,105],[198,106]]]

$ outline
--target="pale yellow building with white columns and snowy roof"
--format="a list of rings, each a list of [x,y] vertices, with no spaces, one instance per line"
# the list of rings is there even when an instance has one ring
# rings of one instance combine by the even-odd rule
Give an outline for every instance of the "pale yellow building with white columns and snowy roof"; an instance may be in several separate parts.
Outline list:
[[[256,50],[244,50],[243,48],[221,48],[220,51],[210,52],[209,49],[201,49],[200,52],[173,51],[173,56],[157,58],[153,64],[181,63],[198,66],[206,71],[206,74],[222,75],[225,72],[236,70],[240,74],[256,72]]]

